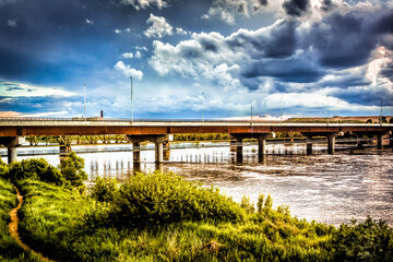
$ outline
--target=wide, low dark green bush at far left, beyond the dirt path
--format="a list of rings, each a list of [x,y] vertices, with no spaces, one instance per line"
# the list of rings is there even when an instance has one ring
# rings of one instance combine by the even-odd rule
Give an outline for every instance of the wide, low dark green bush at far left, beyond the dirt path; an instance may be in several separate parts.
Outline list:
[[[11,163],[5,177],[13,182],[27,178],[56,186],[63,186],[66,182],[61,172],[56,167],[49,165],[44,158],[31,158]]]

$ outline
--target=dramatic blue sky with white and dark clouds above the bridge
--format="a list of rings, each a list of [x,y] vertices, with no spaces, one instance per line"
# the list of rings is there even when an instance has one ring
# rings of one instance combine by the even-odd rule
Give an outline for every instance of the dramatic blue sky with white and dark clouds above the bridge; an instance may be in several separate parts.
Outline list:
[[[393,1],[0,0],[0,117],[131,104],[140,119],[393,115]]]

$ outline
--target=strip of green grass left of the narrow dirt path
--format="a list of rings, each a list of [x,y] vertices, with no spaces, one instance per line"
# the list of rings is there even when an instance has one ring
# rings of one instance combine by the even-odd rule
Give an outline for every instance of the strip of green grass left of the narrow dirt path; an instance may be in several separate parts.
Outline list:
[[[16,204],[12,183],[0,178],[0,261],[39,261],[37,257],[23,250],[10,235],[10,211]]]

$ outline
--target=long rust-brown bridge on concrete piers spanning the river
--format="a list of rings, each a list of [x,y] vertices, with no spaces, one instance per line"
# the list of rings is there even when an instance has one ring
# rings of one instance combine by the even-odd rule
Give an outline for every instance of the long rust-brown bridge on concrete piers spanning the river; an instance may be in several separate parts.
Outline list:
[[[27,135],[103,135],[123,134],[133,143],[134,162],[140,160],[140,143],[155,143],[155,160],[163,162],[163,146],[168,134],[181,133],[228,133],[236,147],[237,157],[242,158],[242,140],[257,139],[258,154],[265,154],[265,141],[276,132],[298,132],[307,138],[307,153],[312,153],[311,138],[325,136],[327,152],[334,153],[335,138],[349,132],[358,138],[377,135],[378,147],[382,147],[382,136],[390,135],[392,145],[393,124],[391,123],[290,123],[245,120],[124,120],[104,118],[0,118],[0,144],[8,147],[8,160],[16,159],[16,148]],[[64,142],[60,154],[71,151]]]

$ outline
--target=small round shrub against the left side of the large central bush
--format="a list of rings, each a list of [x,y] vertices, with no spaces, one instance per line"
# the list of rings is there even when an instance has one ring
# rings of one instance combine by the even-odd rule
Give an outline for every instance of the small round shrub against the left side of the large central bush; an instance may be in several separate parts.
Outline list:
[[[94,182],[91,195],[99,202],[112,202],[119,190],[118,180],[116,178],[97,177]]]

